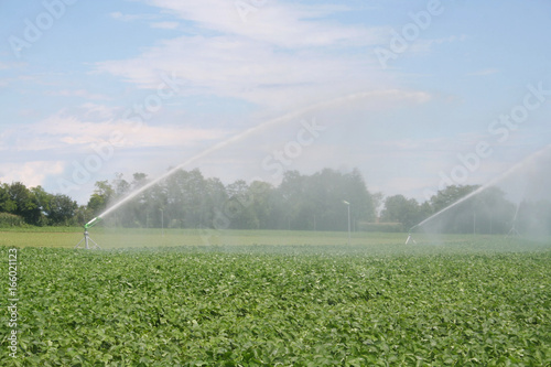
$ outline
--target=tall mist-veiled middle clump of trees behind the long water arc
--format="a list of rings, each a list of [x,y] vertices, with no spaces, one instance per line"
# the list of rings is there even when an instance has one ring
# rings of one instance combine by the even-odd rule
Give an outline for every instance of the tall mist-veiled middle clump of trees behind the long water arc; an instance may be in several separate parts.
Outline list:
[[[143,173],[98,182],[88,208],[101,214],[110,203],[148,183]],[[375,220],[372,195],[358,170],[325,169],[313,175],[288,171],[279,186],[238,180],[224,185],[199,170],[180,170],[120,207],[109,222],[122,227],[341,230],[347,208],[355,220]]]

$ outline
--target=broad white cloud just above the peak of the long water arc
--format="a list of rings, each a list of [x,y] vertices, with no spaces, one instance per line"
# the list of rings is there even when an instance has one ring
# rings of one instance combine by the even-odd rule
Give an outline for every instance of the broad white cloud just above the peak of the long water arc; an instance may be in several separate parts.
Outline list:
[[[214,94],[287,109],[378,87],[383,78],[368,60],[314,51],[278,52],[235,36],[181,36],[138,58],[104,62],[97,68],[142,88],[155,88],[159,75],[174,73],[187,82],[187,94]]]

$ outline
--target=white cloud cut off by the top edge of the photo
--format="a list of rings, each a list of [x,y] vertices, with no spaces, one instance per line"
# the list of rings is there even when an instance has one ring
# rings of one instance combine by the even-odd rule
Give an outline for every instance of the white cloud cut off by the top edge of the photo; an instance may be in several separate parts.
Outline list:
[[[339,6],[304,6],[271,1],[256,10],[239,10],[238,1],[150,0],[150,4],[201,28],[281,47],[324,46],[339,42],[374,44],[380,40],[377,29],[337,25],[321,18],[345,10]],[[249,8],[251,9],[251,8]]]

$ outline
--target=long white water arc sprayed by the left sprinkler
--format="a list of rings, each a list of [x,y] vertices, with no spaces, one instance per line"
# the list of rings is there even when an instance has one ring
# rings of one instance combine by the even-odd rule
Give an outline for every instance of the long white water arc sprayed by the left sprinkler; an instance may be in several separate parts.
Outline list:
[[[389,94],[393,94],[396,93],[395,90],[388,90]],[[277,125],[277,123],[280,123],[282,121],[287,121],[287,120],[290,120],[292,118],[296,118],[296,117],[300,117],[301,115],[305,114],[305,112],[309,112],[309,111],[312,111],[312,110],[315,110],[315,109],[321,109],[321,108],[327,108],[327,107],[331,107],[331,106],[334,106],[334,105],[339,105],[339,104],[343,104],[343,102],[347,102],[347,101],[353,101],[353,100],[356,100],[356,99],[361,99],[361,98],[366,98],[366,97],[372,97],[377,94],[377,91],[364,91],[364,93],[356,93],[356,94],[352,94],[352,95],[346,95],[346,96],[343,96],[343,97],[338,97],[338,98],[334,98],[334,99],[329,99],[329,100],[326,100],[326,101],[323,101],[323,102],[317,102],[317,104],[314,104],[314,105],[311,105],[311,106],[307,106],[305,108],[302,108],[302,109],[299,109],[296,111],[293,111],[293,112],[290,112],[290,114],[287,114],[287,115],[283,115],[283,116],[280,116],[278,118],[274,118],[274,119],[271,119],[271,120],[268,120],[268,121],[264,121],[260,125],[257,125],[252,128],[249,128],[236,136],[233,136],[224,141],[220,141],[219,143],[204,150],[203,152],[187,159],[185,162],[176,165],[175,168],[171,169],[170,171],[168,171],[166,173],[164,173],[163,175],[156,177],[155,180],[151,181],[150,183],[141,186],[140,188],[136,190],[134,192],[130,193],[129,195],[127,195],[125,198],[122,198],[121,201],[119,201],[117,204],[112,205],[111,207],[109,207],[108,209],[106,209],[104,213],[101,213],[100,215],[98,215],[97,217],[95,217],[94,219],[91,219],[90,222],[88,222],[85,227],[86,228],[89,228],[91,227],[93,225],[95,225],[98,220],[100,220],[101,218],[104,218],[105,216],[109,215],[110,213],[117,211],[119,207],[121,207],[122,205],[125,205],[127,202],[131,201],[132,198],[137,197],[138,195],[140,195],[141,193],[143,193],[144,191],[147,191],[148,188],[151,188],[152,186],[156,185],[159,182],[163,181],[164,179],[169,177],[170,175],[174,174],[176,171],[181,170],[182,168],[197,161],[198,159],[202,159],[215,151],[218,151],[223,148],[226,148],[255,132],[258,132],[260,130],[263,130],[272,125]],[[380,91],[379,91],[380,94]]]

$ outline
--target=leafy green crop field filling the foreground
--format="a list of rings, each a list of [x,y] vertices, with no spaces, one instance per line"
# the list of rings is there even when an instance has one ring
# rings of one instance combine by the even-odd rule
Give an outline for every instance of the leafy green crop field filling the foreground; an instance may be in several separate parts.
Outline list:
[[[0,256],[2,366],[551,365],[549,242],[3,246]]]

